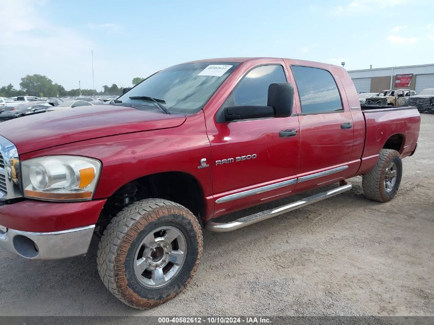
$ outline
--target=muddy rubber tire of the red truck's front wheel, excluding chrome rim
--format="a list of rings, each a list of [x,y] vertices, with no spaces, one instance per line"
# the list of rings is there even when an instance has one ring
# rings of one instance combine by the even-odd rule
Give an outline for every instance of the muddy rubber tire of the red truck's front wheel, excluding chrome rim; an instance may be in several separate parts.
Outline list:
[[[149,288],[136,276],[136,254],[142,249],[142,241],[163,227],[176,228],[182,234],[185,257],[169,282]],[[125,207],[107,226],[98,247],[98,272],[107,289],[123,303],[149,309],[171,300],[185,288],[197,270],[201,255],[202,231],[197,218],[177,203],[146,199]]]

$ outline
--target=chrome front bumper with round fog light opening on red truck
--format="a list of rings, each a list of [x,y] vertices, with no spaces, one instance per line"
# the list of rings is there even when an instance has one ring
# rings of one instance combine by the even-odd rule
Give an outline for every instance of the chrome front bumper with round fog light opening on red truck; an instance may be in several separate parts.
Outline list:
[[[61,259],[86,254],[95,225],[53,233],[30,233],[0,226],[0,248],[28,259]]]

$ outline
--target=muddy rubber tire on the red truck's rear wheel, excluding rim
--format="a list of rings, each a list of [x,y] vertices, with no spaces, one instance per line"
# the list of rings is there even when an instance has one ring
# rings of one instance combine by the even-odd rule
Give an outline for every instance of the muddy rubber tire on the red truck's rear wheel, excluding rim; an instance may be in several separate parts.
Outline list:
[[[391,174],[388,169],[390,166],[395,166],[396,178],[393,182],[393,186],[387,188],[386,183],[388,183],[388,178]],[[369,171],[369,173],[363,175],[363,193],[368,199],[374,201],[390,201],[398,192],[401,178],[402,160],[399,152],[392,149],[382,149],[375,167]]]

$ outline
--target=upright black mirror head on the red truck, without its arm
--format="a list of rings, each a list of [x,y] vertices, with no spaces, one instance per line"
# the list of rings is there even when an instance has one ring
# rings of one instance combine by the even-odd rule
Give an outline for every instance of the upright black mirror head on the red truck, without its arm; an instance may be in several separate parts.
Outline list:
[[[274,108],[276,118],[286,118],[292,114],[294,87],[287,82],[271,84],[268,87],[267,106]]]

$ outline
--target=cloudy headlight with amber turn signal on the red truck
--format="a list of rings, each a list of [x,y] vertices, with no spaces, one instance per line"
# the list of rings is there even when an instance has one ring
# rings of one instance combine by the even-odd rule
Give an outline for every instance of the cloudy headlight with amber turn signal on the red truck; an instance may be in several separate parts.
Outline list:
[[[24,196],[44,200],[92,199],[101,162],[78,156],[47,156],[23,161]]]

